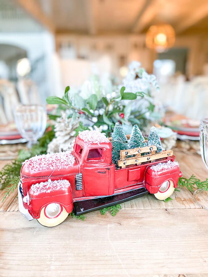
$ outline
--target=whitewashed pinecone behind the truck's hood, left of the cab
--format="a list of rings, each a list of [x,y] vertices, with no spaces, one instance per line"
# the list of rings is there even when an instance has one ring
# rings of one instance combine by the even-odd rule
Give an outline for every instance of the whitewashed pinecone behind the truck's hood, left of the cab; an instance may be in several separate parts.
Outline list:
[[[67,113],[62,111],[61,117],[55,122],[55,138],[48,144],[47,152],[72,150],[76,139],[75,129],[78,126],[78,119],[67,118]]]

